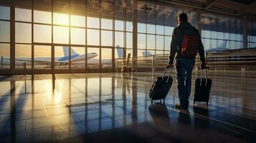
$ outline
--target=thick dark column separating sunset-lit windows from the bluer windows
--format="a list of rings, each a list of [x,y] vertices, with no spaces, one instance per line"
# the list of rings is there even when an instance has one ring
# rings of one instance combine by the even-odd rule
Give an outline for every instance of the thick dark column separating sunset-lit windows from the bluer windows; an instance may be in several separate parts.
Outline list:
[[[133,0],[133,57],[138,56],[138,0]],[[137,69],[137,59],[133,58],[133,70]]]

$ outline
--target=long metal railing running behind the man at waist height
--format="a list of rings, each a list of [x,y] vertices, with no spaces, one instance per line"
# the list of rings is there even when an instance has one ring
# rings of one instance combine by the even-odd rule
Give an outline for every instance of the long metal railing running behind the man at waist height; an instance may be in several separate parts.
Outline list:
[[[207,51],[207,66],[211,69],[256,69],[256,54],[252,53],[256,50],[240,50],[240,51],[228,51],[219,54]],[[254,56],[255,55],[255,56]],[[136,66],[138,71],[156,71],[163,70],[169,61],[169,54],[156,54],[151,56],[136,56],[131,57],[131,71],[134,70],[133,61],[136,59]],[[124,60],[124,59],[122,59]],[[120,58],[116,60],[120,62]],[[200,67],[199,56],[196,56],[195,68]],[[118,67],[117,67],[118,70]]]

